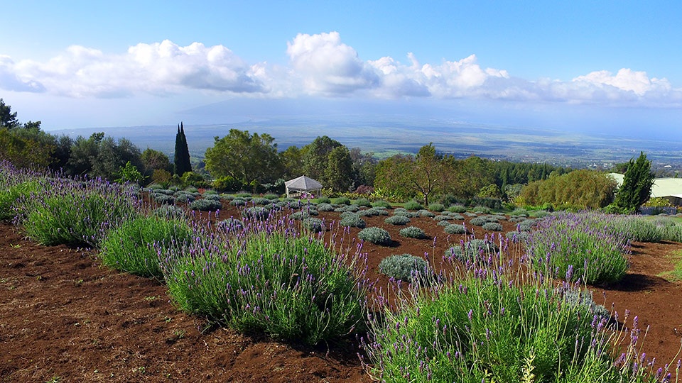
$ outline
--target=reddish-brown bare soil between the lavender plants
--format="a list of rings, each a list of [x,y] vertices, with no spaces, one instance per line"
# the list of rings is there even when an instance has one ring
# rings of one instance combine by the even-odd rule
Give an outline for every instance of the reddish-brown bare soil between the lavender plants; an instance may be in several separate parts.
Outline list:
[[[220,215],[237,211],[224,206]],[[408,223],[431,238],[402,238],[404,226],[384,218],[364,217],[394,238],[390,247],[364,244],[377,286],[388,284],[378,268],[384,257],[440,260],[464,239],[431,218]],[[502,223],[502,233],[514,230]],[[486,234],[472,227],[477,238]],[[649,326],[642,351],[662,366],[679,357],[682,284],[659,275],[673,270],[682,244],[634,243],[632,250],[627,277],[592,291],[597,303],[621,315],[629,309],[640,327]],[[310,348],[212,327],[175,309],[163,284],[102,267],[94,250],[36,245],[21,228],[0,223],[0,382],[372,382],[358,353],[354,338]]]

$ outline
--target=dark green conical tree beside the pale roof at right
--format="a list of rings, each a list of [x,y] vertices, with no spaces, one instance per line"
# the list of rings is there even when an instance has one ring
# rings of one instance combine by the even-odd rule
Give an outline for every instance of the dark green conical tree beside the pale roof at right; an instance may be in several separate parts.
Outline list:
[[[616,205],[626,211],[638,211],[651,196],[654,177],[651,161],[646,160],[644,152],[639,152],[637,160],[631,158],[627,163],[623,184],[616,194]]]

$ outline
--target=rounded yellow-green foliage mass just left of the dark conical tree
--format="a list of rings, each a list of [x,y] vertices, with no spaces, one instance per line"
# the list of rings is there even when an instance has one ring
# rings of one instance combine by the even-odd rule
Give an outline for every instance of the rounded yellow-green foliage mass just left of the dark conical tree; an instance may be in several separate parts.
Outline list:
[[[598,209],[613,201],[615,179],[594,170],[574,170],[561,176],[553,175],[544,181],[531,182],[521,189],[519,205],[551,204],[556,209],[578,206]]]

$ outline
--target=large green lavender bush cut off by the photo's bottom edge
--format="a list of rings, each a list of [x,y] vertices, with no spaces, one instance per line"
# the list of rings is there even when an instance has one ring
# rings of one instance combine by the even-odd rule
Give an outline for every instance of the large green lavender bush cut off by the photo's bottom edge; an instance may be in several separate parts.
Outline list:
[[[386,305],[370,323],[370,373],[384,382],[653,382],[610,359],[607,319],[573,299],[575,287],[519,287],[507,273],[470,271],[437,294],[399,295],[397,309]]]

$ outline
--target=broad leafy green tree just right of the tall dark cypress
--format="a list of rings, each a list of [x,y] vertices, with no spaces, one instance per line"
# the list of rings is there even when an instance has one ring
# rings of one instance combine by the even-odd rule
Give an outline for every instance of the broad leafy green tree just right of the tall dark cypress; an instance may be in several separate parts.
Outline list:
[[[275,139],[267,133],[230,129],[223,138],[206,149],[206,169],[215,178],[230,176],[243,184],[266,184],[282,175],[281,158]]]

